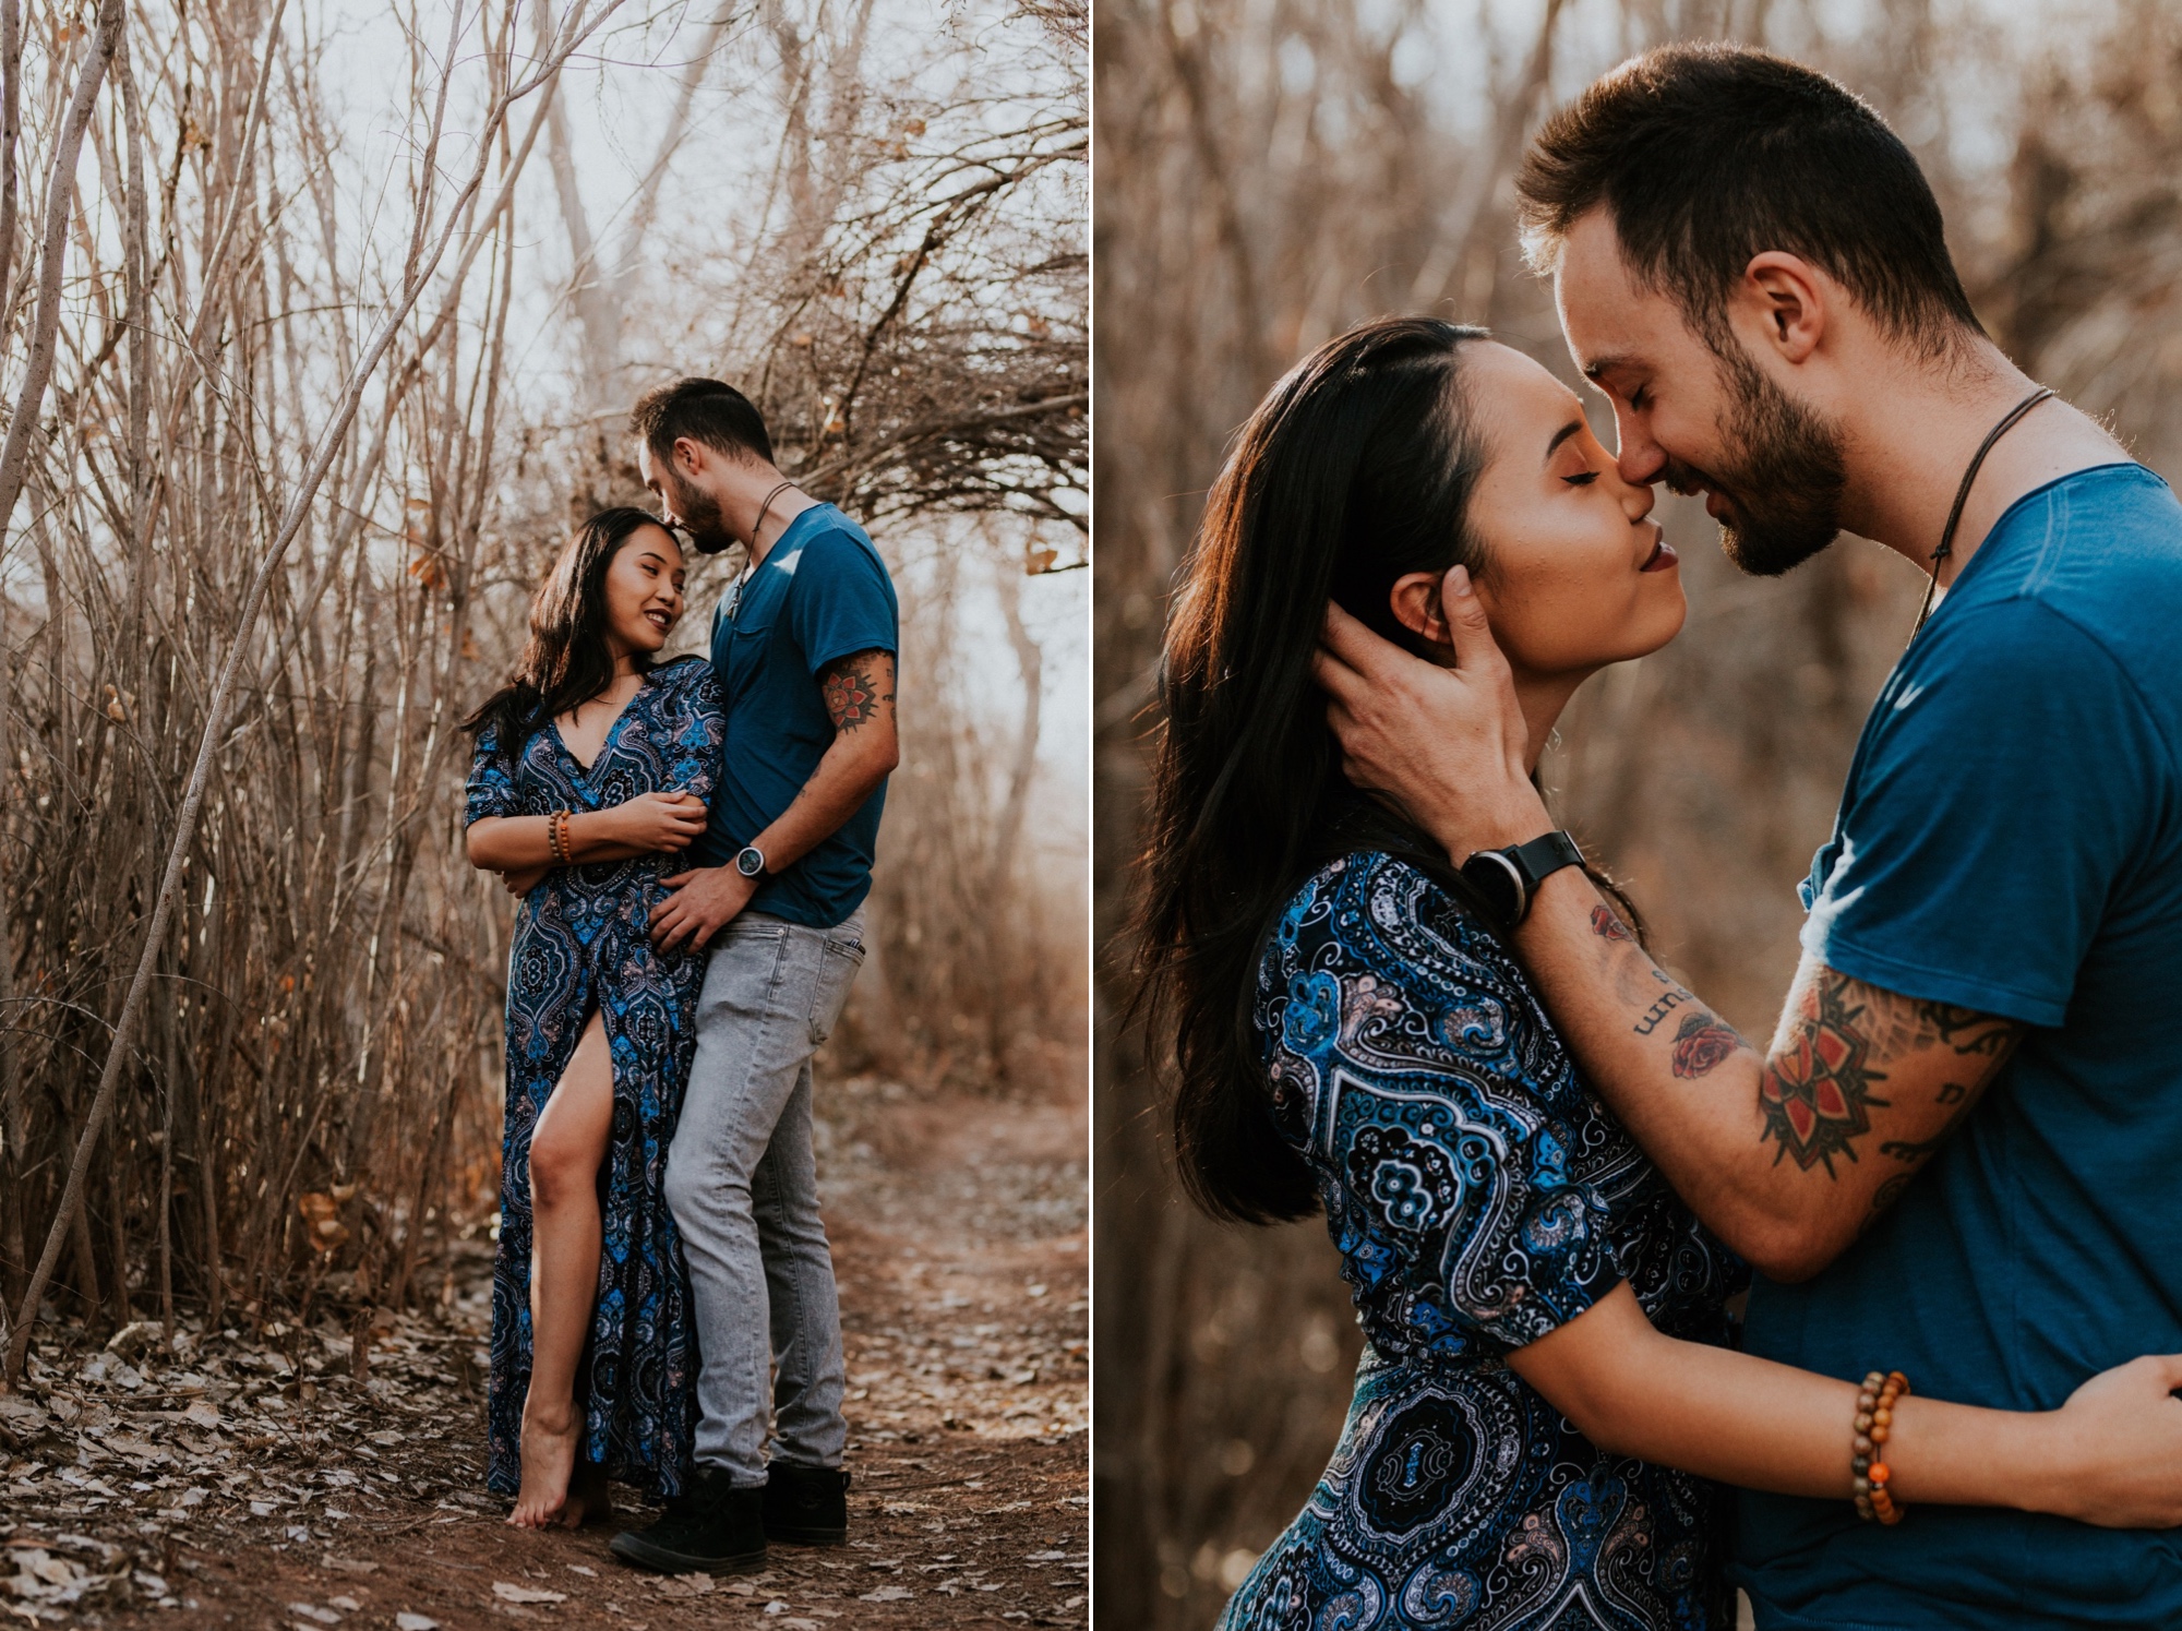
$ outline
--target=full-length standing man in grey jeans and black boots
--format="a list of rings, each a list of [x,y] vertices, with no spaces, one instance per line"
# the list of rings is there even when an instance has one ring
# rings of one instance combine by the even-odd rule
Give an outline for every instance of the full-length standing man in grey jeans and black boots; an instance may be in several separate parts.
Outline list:
[[[661,949],[711,953],[666,1173],[703,1358],[696,1465],[663,1520],[613,1542],[646,1568],[720,1574],[762,1566],[768,1539],[847,1537],[812,1053],[864,962],[899,759],[897,606],[871,539],[779,473],[740,390],[681,379],[644,397],[631,427],[666,519],[705,554],[748,556],[711,624],[727,746],[709,822],[652,911]]]

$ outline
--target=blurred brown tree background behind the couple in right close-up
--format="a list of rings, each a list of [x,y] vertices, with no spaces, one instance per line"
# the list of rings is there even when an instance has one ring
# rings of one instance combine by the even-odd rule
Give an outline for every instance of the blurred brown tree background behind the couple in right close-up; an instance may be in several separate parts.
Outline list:
[[[1536,120],[1669,39],[1737,39],[1872,100],[1946,212],[1992,336],[2182,475],[2182,11],[1818,0],[1102,0],[1095,17],[1095,920],[1100,1624],[1204,1627],[1298,1511],[1359,1334],[1320,1221],[1237,1230],[1172,1182],[1122,1027],[1130,861],[1165,595],[1228,434],[1296,358],[1386,312],[1488,323],[1571,384],[1521,264]],[[1610,416],[1595,423],[1612,445]],[[1770,1036],[1794,885],[1922,578],[1844,539],[1741,578],[1661,510],[1691,617],[1593,680],[1547,783],[1630,881],[1665,959]]]

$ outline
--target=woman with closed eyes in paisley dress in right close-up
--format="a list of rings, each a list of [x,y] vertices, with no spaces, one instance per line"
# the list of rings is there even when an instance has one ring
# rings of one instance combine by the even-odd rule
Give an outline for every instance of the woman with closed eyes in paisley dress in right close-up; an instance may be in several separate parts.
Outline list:
[[[1726,1631],[1713,1478],[1853,1494],[1855,1385],[1733,1352],[1746,1269],[1588,1092],[1492,903],[1344,778],[1311,682],[1329,600],[1451,665],[1440,595],[1475,593],[1543,744],[1584,678],[1680,630],[1650,510],[1573,392],[1427,318],[1296,364],[1211,491],[1167,624],[1146,1016],[1194,1197],[1324,1210],[1366,1337],[1333,1459],[1224,1631]],[[1621,905],[1602,935],[1634,933]],[[1669,1007],[1678,1068],[1735,1047]],[[2031,1441],[2099,1446],[2077,1489],[2127,1467],[2110,1376],[2045,1437],[1914,1400],[1920,1485],[2051,1502],[1999,1450]]]

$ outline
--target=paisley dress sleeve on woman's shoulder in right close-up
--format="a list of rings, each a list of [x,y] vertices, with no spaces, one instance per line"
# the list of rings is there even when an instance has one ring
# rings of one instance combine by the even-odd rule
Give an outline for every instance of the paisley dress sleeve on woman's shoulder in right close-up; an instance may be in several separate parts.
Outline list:
[[[1451,1326],[1451,1345],[1545,1337],[1623,1278],[1604,1195],[1569,1171],[1567,1051],[1506,953],[1416,868],[1351,859],[1322,907],[1283,918],[1285,990],[1259,1012],[1276,1084],[1314,1084],[1359,1300],[1372,1278],[1405,1284],[1388,1313]]]

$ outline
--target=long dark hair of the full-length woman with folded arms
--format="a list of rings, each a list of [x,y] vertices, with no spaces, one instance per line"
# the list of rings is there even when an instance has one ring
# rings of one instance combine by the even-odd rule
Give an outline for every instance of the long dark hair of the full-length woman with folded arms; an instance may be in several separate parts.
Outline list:
[[[613,652],[607,648],[607,567],[637,532],[663,528],[648,510],[618,506],[600,510],[567,541],[546,582],[530,597],[530,639],[515,659],[515,674],[463,720],[471,735],[493,726],[508,759],[524,750],[530,733],[613,685]],[[637,672],[650,654],[635,654]]]

